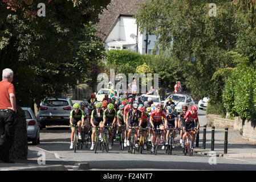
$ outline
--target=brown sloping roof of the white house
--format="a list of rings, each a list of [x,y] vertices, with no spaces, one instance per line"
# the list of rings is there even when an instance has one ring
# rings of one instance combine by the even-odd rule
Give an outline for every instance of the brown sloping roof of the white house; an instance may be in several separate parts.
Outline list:
[[[103,13],[99,15],[100,21],[97,24],[98,31],[101,32],[98,36],[103,42],[120,15],[135,15],[140,8],[139,4],[146,1],[149,0],[111,0],[107,9],[104,9]]]

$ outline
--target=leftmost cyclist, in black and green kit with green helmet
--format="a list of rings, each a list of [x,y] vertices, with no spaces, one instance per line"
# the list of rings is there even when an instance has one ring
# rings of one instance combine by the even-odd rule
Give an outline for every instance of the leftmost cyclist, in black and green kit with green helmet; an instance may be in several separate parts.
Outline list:
[[[71,126],[71,144],[70,149],[74,148],[74,134],[75,134],[75,127],[78,126],[78,139],[82,139],[81,136],[81,121],[84,123],[84,111],[79,109],[79,104],[73,105],[73,110],[70,111],[70,126]]]

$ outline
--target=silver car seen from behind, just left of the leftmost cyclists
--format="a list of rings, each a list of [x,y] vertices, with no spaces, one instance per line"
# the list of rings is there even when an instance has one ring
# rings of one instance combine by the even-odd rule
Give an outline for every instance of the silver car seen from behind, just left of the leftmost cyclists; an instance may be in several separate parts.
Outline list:
[[[46,125],[69,125],[73,103],[70,98],[44,98],[38,111],[40,129]]]

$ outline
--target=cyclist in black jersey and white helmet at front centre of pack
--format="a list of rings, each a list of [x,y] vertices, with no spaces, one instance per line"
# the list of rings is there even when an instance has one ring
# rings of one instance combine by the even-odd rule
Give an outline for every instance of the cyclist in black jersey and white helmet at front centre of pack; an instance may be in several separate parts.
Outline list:
[[[138,110],[138,105],[137,104],[133,104],[132,105],[132,110],[129,110],[129,112],[127,113],[127,119],[126,119],[126,125],[127,127],[129,127],[128,129],[128,136],[127,136],[127,146],[130,146],[130,142],[129,142],[129,138],[131,137],[132,134],[132,127],[135,127],[135,147],[139,147],[139,144],[137,143],[137,138],[139,135],[139,130],[138,130],[138,126],[139,126],[139,120],[141,118],[141,112]]]

